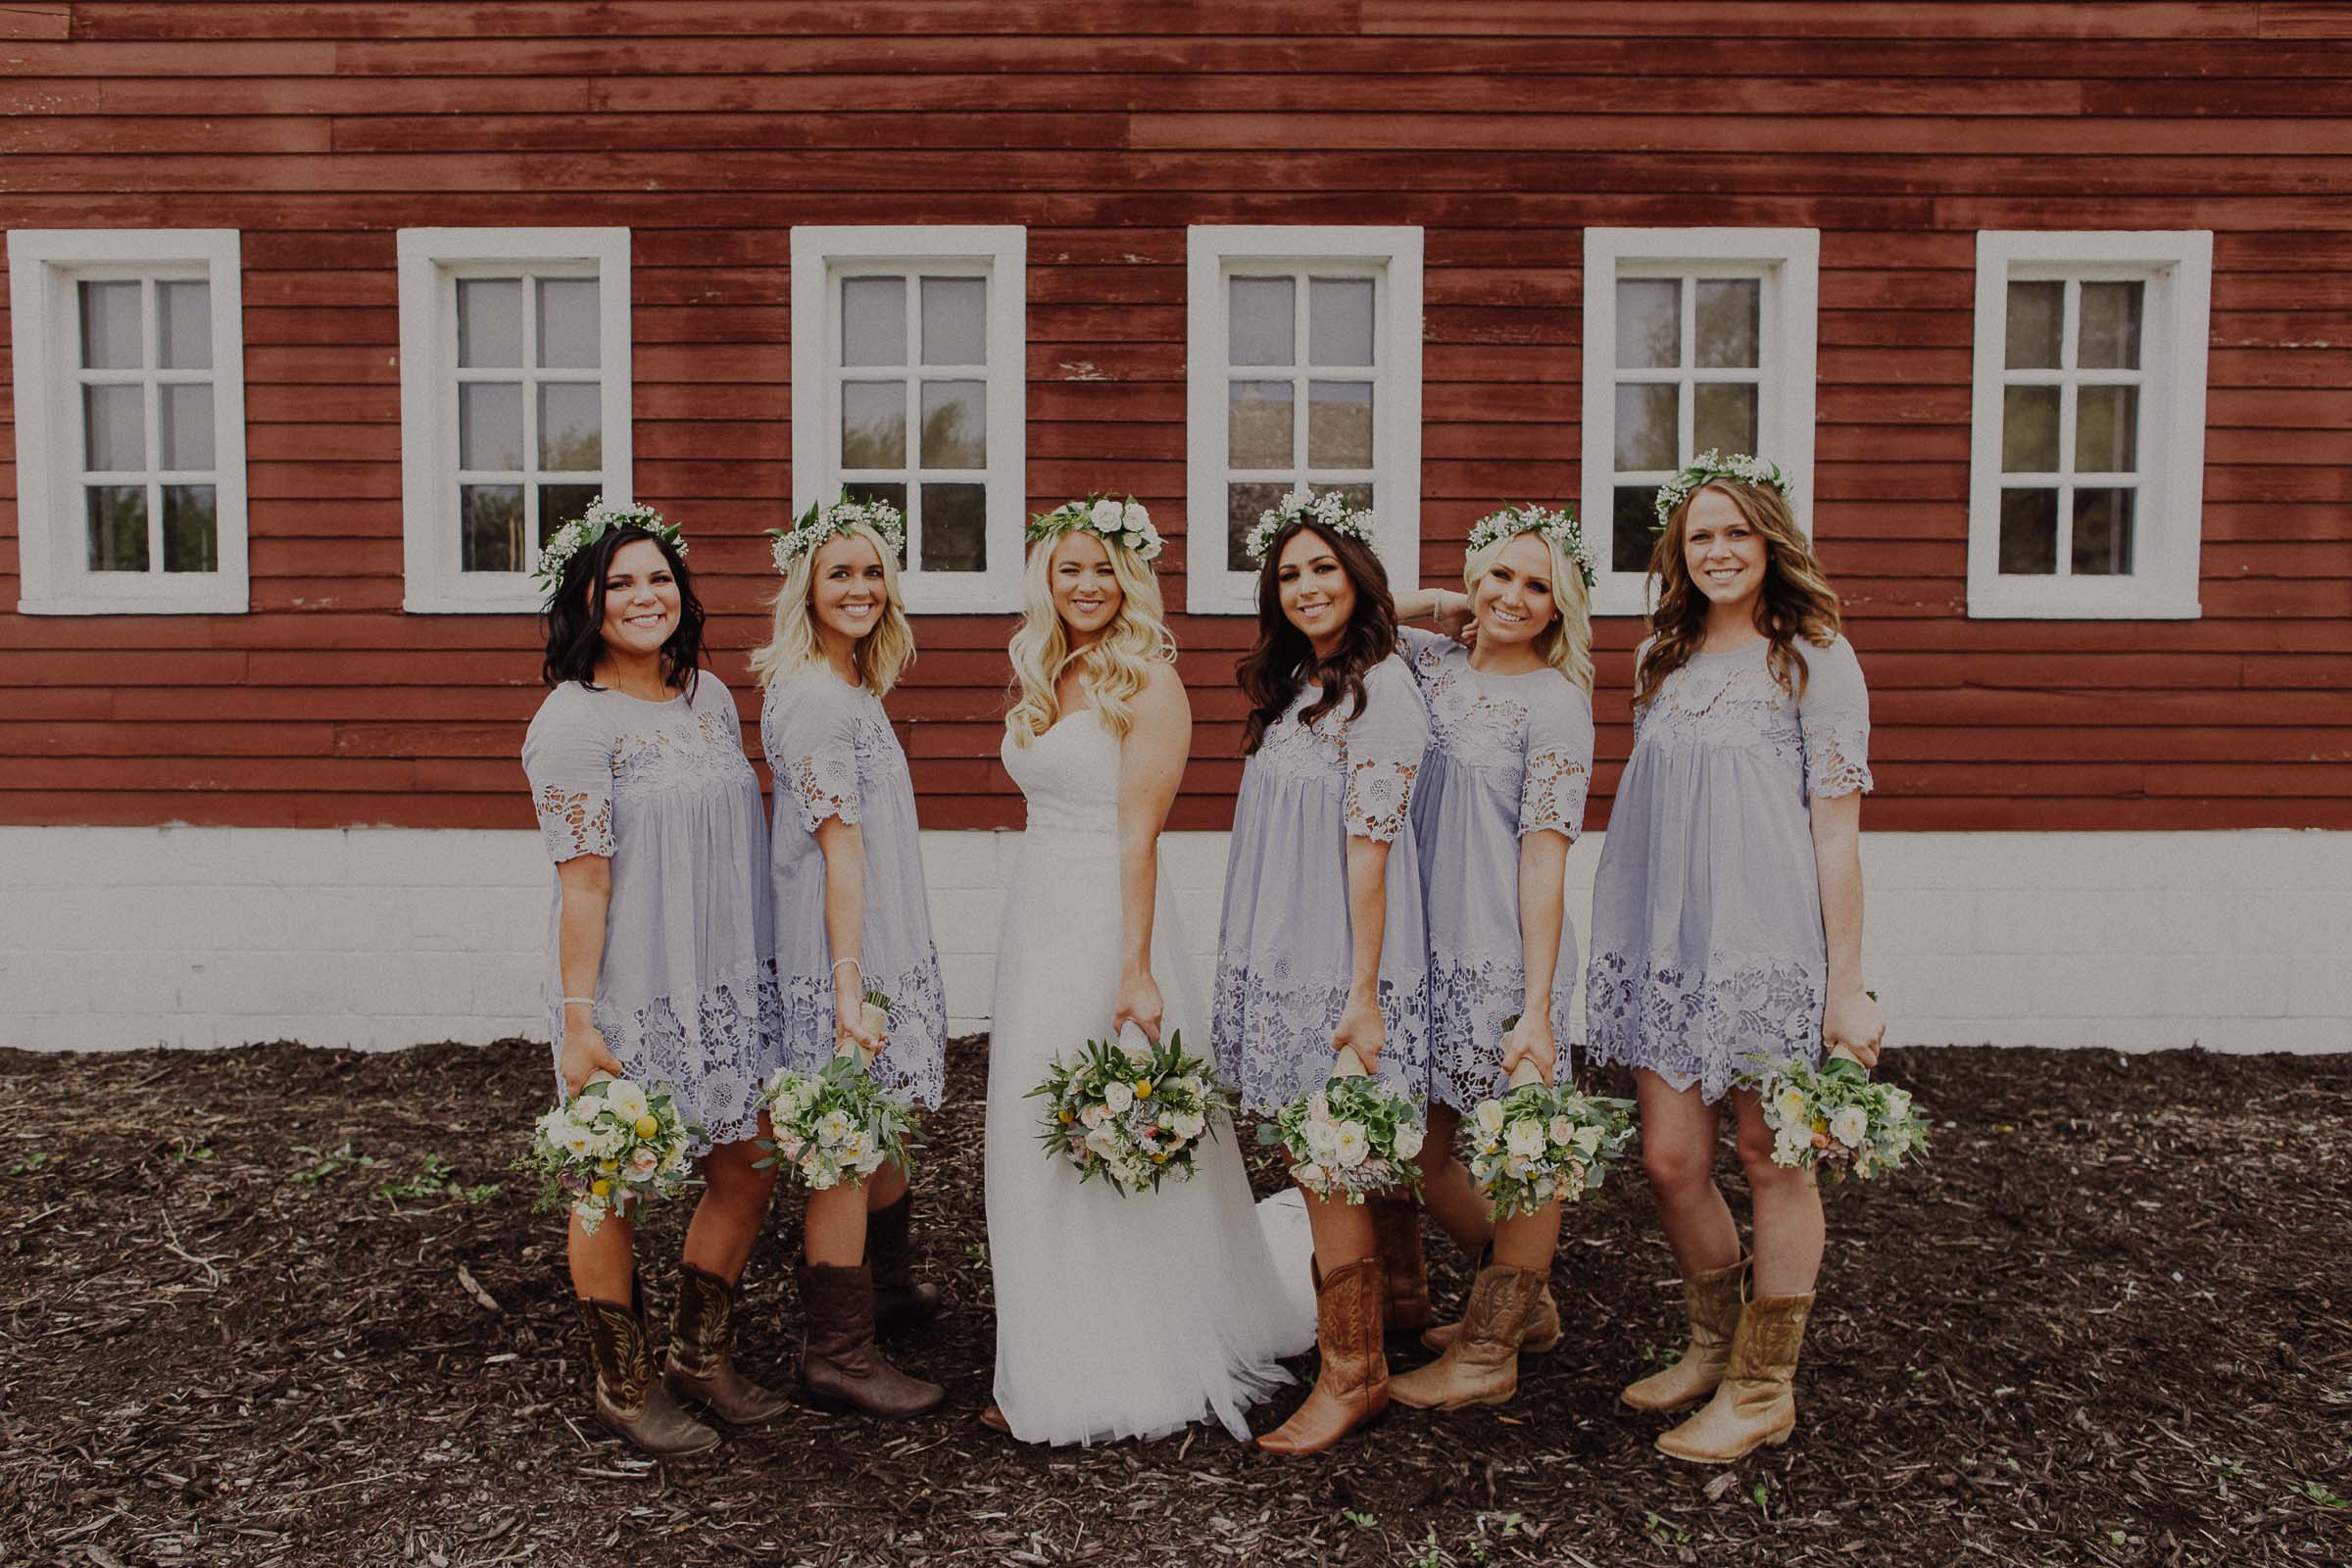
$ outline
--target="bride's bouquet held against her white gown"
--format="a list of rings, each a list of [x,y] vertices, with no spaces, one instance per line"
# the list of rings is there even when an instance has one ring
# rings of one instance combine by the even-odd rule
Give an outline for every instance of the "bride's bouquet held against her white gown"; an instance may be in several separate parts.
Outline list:
[[[1157,1192],[1164,1175],[1192,1180],[1195,1154],[1235,1095],[1183,1048],[1183,1030],[1155,1046],[1129,1023],[1117,1044],[1089,1039],[1075,1065],[1056,1060],[1025,1098],[1047,1103],[1047,1159],[1068,1159],[1080,1182],[1101,1175],[1117,1192]]]

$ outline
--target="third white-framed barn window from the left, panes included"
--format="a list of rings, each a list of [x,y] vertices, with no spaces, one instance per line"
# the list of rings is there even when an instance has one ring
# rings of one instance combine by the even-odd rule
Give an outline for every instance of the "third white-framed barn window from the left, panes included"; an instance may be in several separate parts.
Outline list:
[[[906,512],[913,611],[1021,607],[1028,230],[793,230],[793,510]]]

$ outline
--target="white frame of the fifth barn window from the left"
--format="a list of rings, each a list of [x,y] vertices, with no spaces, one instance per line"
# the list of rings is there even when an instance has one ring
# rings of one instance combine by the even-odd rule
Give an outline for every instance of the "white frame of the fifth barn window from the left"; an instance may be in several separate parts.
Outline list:
[[[1597,616],[1649,614],[1649,578],[1616,571],[1616,284],[1621,277],[1759,277],[1757,308],[1757,456],[1790,482],[1790,510],[1813,534],[1813,414],[1820,324],[1818,228],[1588,228],[1585,230],[1585,388],[1583,484],[1578,520],[1599,588]],[[1684,313],[1684,339],[1696,331]],[[1691,400],[1682,400],[1682,430]],[[1682,437],[1677,437],[1682,440]],[[1686,454],[1696,456],[1696,454]]]

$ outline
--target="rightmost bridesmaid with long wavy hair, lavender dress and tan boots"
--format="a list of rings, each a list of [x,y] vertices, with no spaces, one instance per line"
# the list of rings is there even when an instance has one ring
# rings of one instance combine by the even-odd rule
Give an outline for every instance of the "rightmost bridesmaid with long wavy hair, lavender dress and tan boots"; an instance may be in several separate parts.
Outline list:
[[[1585,1013],[1592,1056],[1635,1067],[1642,1164],[1691,1319],[1684,1356],[1623,1399],[1670,1410],[1712,1392],[1658,1448],[1722,1465],[1797,1425],[1823,1248],[1811,1171],[1771,1161],[1757,1093],[1733,1077],[1825,1044],[1867,1065],[1886,1032],[1863,990],[1870,698],[1778,468],[1710,451],[1661,487],[1658,520]],[[1715,1187],[1726,1093],[1755,1204],[1752,1286]]]

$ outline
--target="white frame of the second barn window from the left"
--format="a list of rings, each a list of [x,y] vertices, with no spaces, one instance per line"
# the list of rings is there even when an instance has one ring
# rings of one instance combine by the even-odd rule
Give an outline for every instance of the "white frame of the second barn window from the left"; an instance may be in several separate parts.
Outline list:
[[[400,527],[409,614],[536,611],[524,571],[463,571],[456,517],[456,275],[475,263],[597,277],[604,498],[635,498],[626,228],[400,230]],[[524,454],[534,456],[534,454]]]

